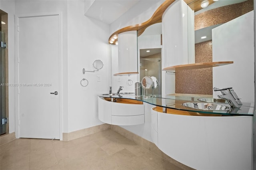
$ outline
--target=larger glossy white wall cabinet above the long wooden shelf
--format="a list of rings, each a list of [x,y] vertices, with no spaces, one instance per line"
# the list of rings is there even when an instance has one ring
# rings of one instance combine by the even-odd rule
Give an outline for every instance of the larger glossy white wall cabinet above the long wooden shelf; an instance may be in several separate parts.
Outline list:
[[[194,26],[188,27],[188,20],[194,20],[191,16],[194,13],[183,0],[176,0],[165,10],[162,16],[163,68],[194,62],[194,55],[188,59],[188,49],[193,49],[194,45]]]

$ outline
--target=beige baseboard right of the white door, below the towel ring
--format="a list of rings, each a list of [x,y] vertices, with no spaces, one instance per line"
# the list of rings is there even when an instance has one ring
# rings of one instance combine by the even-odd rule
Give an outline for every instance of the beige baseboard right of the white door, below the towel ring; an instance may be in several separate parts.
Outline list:
[[[62,140],[69,141],[69,140],[77,139],[83,136],[87,136],[89,134],[94,134],[97,132],[101,132],[103,130],[107,130],[109,128],[110,128],[110,125],[105,123],[105,124],[94,126],[94,127],[76,130],[74,132],[62,133]]]

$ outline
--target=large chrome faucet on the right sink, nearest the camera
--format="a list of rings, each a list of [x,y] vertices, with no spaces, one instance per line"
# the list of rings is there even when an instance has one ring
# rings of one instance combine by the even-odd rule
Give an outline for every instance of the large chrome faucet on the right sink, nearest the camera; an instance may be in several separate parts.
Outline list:
[[[222,95],[218,95],[218,97],[220,99],[226,99],[231,107],[240,108],[243,104],[232,89],[232,87],[224,89],[214,89],[214,91],[220,91]]]

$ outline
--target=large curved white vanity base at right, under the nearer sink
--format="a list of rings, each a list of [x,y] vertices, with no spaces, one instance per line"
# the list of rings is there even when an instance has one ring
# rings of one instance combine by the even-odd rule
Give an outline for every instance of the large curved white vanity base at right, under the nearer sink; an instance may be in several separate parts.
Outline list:
[[[252,169],[252,117],[175,115],[153,108],[151,115],[153,141],[178,162],[198,170]]]

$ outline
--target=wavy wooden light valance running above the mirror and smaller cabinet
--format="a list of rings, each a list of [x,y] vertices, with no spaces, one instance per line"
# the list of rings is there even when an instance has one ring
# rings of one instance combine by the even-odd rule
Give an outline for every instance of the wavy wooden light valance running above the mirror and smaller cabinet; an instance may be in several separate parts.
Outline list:
[[[166,0],[164,1],[164,3],[162,3],[158,8],[157,10],[154,12],[154,14],[152,15],[152,17],[147,20],[146,22],[143,22],[141,24],[136,24],[136,25],[133,25],[133,26],[127,26],[127,27],[124,27],[124,28],[121,28],[120,30],[117,30],[116,32],[114,32],[108,39],[108,43],[110,43],[110,40],[112,39],[113,36],[118,36],[118,34],[122,33],[122,32],[126,32],[126,31],[138,31],[142,28],[144,28],[144,30],[152,25],[152,24],[156,24],[156,23],[159,23],[159,22],[162,22],[162,15],[164,13],[164,11],[166,10],[166,8],[168,8],[168,6],[170,6],[170,4],[172,4],[172,2],[174,2],[175,0]],[[138,36],[141,35],[144,30],[141,30],[139,33],[138,33]],[[110,44],[115,44],[116,42],[118,41],[118,39],[116,39],[113,43],[110,43]]]

